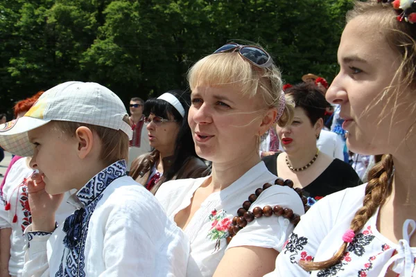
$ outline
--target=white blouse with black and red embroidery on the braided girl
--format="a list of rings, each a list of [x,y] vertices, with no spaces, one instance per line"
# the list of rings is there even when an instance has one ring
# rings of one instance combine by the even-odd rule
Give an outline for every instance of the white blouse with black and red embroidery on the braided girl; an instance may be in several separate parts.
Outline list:
[[[336,265],[312,272],[298,265],[300,260],[327,260],[338,251],[354,214],[363,206],[364,196],[365,184],[320,199],[302,216],[286,247],[277,256],[275,271],[266,276],[376,277],[385,276],[390,266],[397,276],[416,276],[416,247],[409,246],[409,238],[416,229],[415,221],[406,220],[403,238],[395,244],[376,229],[379,211],[355,235]],[[408,226],[412,227],[410,233]]]

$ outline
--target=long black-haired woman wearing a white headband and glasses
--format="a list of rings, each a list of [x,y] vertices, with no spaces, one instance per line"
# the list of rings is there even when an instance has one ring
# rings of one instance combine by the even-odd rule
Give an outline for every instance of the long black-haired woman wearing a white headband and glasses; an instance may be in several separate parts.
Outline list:
[[[135,159],[129,175],[153,194],[165,181],[209,174],[193,145],[187,121],[190,102],[189,93],[175,90],[144,104],[149,143],[155,150]]]

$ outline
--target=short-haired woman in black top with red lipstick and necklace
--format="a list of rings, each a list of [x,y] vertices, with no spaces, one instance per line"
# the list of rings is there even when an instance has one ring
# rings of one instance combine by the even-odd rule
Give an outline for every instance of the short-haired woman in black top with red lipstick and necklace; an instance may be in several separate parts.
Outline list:
[[[293,180],[310,197],[309,204],[331,193],[361,184],[360,178],[340,159],[320,152],[316,146],[329,106],[322,92],[313,84],[301,83],[286,89],[286,100],[295,104],[293,123],[277,126],[277,135],[284,153],[263,158],[270,172]]]

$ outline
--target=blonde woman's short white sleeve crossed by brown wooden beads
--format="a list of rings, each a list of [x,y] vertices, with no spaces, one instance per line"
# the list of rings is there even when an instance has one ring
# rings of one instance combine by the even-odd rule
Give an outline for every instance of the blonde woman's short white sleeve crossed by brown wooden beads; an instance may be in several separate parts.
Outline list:
[[[250,211],[257,206],[291,208],[293,213],[304,214],[304,206],[299,195],[292,188],[272,186],[265,190],[250,206]],[[229,242],[227,249],[232,247],[252,246],[273,248],[281,251],[288,236],[293,231],[293,224],[286,218],[276,215],[257,218],[237,233]]]

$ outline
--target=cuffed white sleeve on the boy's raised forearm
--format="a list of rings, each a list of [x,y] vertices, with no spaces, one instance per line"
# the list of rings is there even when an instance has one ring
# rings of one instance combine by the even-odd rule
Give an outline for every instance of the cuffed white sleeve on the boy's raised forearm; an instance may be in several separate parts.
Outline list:
[[[26,227],[26,253],[24,256],[23,277],[49,276],[49,262],[46,244],[52,233],[32,232],[32,224]]]

